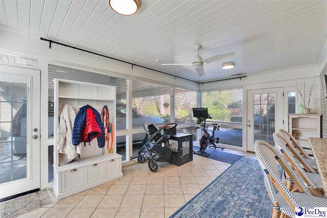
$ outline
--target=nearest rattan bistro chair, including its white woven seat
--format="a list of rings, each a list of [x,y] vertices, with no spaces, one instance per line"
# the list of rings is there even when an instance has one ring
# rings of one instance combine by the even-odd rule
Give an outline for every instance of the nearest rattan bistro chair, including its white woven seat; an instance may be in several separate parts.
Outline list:
[[[312,196],[310,190],[289,167],[284,156],[265,141],[254,143],[255,154],[264,173],[264,183],[273,202],[272,217],[294,217],[296,207],[327,207],[327,200]],[[291,192],[279,175],[277,163],[292,177],[297,189]],[[275,192],[273,186],[277,189]],[[297,192],[298,191],[298,192]]]

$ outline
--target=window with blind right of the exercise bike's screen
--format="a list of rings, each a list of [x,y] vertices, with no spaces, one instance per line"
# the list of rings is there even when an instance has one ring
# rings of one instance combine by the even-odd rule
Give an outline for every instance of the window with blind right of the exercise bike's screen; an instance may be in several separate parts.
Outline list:
[[[242,89],[201,92],[202,107],[208,108],[210,121],[242,123]]]

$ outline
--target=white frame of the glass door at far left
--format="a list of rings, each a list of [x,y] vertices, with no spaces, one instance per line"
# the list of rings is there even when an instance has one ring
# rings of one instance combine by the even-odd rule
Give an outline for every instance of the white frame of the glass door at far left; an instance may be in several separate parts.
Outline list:
[[[0,80],[23,80],[28,86],[27,177],[0,184],[0,199],[40,188],[40,70],[0,65]],[[36,128],[37,132],[32,130]],[[32,136],[37,135],[37,139]],[[33,150],[32,150],[33,149]]]

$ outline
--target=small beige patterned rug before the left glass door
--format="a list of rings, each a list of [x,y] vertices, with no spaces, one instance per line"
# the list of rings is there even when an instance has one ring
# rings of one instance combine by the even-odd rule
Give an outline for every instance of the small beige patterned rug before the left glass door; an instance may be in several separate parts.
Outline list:
[[[16,217],[31,210],[53,203],[48,188],[0,203],[0,218]]]

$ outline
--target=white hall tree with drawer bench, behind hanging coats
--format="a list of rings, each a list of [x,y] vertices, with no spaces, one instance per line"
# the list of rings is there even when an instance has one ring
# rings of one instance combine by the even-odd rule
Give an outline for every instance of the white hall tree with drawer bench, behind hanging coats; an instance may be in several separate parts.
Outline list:
[[[116,87],[95,83],[86,83],[62,79],[54,79],[54,185],[53,189],[57,199],[83,190],[98,186],[111,180],[120,178],[122,173],[122,156],[116,153],[115,142],[115,108]],[[90,105],[99,113],[104,105],[108,106],[110,123],[113,125],[113,153],[102,154],[102,148],[98,147],[97,139],[90,143],[82,142],[82,154],[76,157],[74,162],[63,164],[62,154],[57,149],[59,108],[64,104],[75,108],[77,114],[79,108]]]

